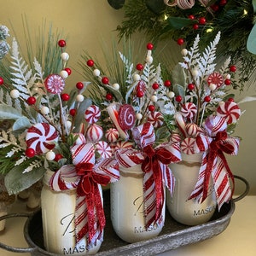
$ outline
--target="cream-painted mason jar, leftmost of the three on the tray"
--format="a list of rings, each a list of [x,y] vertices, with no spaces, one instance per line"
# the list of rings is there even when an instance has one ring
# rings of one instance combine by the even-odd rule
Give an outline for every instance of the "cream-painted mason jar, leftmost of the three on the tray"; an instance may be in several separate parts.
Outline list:
[[[49,188],[49,179],[54,172],[44,175],[44,187],[41,195],[44,247],[49,253],[84,255],[95,254],[102,241],[86,250],[84,237],[76,244],[74,230],[74,214],[76,207],[76,189],[61,192]],[[99,185],[102,194],[102,187]]]

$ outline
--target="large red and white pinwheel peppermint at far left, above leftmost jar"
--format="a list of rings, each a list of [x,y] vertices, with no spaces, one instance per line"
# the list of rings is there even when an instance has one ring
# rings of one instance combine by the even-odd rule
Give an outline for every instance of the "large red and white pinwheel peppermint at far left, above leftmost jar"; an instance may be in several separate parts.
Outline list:
[[[55,127],[48,123],[38,123],[26,132],[26,146],[35,150],[36,154],[44,154],[55,148],[58,133]]]

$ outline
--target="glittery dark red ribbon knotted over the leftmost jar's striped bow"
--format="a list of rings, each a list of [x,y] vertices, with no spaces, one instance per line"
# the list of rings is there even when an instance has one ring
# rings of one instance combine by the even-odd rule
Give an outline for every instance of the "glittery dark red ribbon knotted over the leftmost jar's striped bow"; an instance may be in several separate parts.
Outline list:
[[[93,172],[94,164],[91,163],[80,163],[77,164],[75,168],[77,174],[80,176],[77,195],[84,196],[84,200],[87,205],[88,226],[85,228],[85,232],[88,232],[90,243],[95,234],[95,219],[97,219],[97,226],[99,227],[99,230],[103,230],[106,224],[98,184],[107,185],[110,182],[110,177]],[[84,232],[81,233],[81,236],[84,236]]]

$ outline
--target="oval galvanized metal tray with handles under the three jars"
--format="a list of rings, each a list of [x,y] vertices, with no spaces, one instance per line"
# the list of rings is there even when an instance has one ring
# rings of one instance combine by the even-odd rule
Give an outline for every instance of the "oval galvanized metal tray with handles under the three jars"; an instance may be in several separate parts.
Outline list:
[[[177,223],[168,211],[166,211],[166,221],[160,235],[147,241],[139,241],[129,244],[122,241],[113,230],[110,220],[110,203],[109,191],[104,191],[104,209],[106,214],[106,227],[104,230],[104,241],[100,251],[96,253],[99,256],[126,256],[126,255],[155,255],[166,251],[209,239],[223,232],[230,224],[230,218],[235,211],[235,201],[241,200],[249,190],[247,181],[241,177],[237,177],[246,183],[246,191],[235,200],[231,200],[229,204],[224,204],[220,212],[218,210],[212,216],[212,219],[196,226],[186,226]],[[28,217],[24,226],[24,236],[30,247],[9,247],[0,243],[0,247],[12,252],[31,253],[32,256],[57,256],[55,253],[49,253],[44,249],[44,238],[42,228],[41,211],[27,213],[9,214],[5,218]],[[0,218],[0,220],[3,218]]]

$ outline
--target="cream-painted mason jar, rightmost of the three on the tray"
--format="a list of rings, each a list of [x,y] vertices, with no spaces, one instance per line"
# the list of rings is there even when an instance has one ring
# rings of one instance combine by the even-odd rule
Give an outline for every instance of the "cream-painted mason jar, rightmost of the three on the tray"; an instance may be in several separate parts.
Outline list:
[[[167,192],[166,206],[172,218],[181,224],[203,224],[212,218],[217,207],[212,177],[209,183],[210,193],[205,201],[201,203],[195,199],[189,199],[195,189],[201,160],[202,154],[182,154],[181,162],[170,164],[176,182],[172,197]]]

